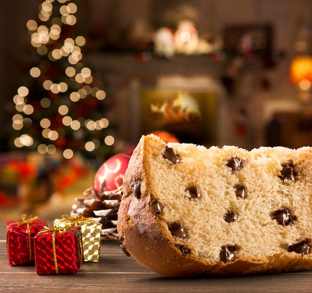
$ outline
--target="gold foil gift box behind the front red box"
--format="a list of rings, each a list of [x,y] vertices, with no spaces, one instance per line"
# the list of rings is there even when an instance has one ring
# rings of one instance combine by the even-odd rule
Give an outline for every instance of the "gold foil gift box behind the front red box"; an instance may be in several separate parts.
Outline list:
[[[62,219],[54,220],[54,227],[64,228],[73,225],[81,227],[84,261],[97,263],[100,258],[102,224],[81,215],[63,216]]]

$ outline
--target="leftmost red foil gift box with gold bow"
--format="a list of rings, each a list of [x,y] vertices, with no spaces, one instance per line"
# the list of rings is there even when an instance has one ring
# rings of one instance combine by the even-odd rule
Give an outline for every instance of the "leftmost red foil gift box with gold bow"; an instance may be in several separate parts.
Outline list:
[[[34,264],[34,237],[48,222],[37,217],[21,222],[6,222],[6,257],[10,266]]]

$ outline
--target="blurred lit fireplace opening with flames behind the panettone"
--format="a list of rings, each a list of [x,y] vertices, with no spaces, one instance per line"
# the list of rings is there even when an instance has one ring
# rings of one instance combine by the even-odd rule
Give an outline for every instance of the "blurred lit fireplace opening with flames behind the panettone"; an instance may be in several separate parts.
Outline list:
[[[222,91],[216,83],[138,87],[135,100],[137,138],[162,130],[174,134],[180,142],[220,144],[224,117]]]

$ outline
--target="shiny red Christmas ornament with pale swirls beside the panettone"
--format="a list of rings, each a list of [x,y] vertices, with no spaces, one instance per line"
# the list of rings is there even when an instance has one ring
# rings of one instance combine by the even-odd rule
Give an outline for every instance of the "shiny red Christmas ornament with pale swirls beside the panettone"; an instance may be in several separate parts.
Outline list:
[[[121,188],[130,157],[131,154],[118,154],[109,158],[95,174],[93,188],[99,192]]]

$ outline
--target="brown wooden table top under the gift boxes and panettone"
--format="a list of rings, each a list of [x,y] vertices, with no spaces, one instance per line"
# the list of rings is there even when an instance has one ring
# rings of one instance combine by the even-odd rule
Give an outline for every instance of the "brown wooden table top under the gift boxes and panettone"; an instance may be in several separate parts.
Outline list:
[[[312,292],[312,271],[231,278],[169,279],[126,257],[118,241],[102,242],[99,263],[84,263],[75,275],[38,276],[34,266],[11,267],[0,222],[0,292]]]

